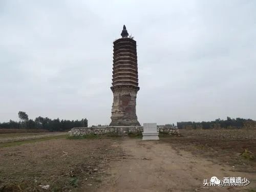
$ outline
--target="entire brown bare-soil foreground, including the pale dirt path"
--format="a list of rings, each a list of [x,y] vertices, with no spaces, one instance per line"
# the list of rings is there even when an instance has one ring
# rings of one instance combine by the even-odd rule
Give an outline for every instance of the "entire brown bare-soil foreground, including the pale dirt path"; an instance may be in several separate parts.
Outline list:
[[[255,159],[239,156],[245,148],[255,155],[255,131],[181,130],[181,135],[0,147],[0,191],[255,191]],[[203,186],[212,176],[246,177],[250,184]],[[47,190],[39,186],[48,184]]]

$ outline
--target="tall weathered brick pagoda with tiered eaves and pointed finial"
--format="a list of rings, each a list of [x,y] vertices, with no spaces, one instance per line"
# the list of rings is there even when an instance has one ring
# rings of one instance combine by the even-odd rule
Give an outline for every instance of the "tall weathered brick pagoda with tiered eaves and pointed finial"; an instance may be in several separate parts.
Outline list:
[[[122,38],[114,41],[113,79],[114,95],[111,126],[140,125],[136,115],[136,97],[139,91],[136,41],[128,37],[123,26]]]

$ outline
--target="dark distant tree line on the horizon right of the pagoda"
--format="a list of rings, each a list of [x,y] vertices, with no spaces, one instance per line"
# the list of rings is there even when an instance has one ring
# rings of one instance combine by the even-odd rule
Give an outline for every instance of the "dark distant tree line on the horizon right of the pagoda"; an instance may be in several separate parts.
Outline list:
[[[177,126],[179,129],[186,129],[187,127],[191,127],[192,129],[214,129],[214,128],[242,128],[245,126],[247,122],[253,121],[251,119],[243,119],[243,118],[236,118],[231,119],[227,117],[226,120],[216,119],[215,121],[202,121],[202,122],[177,122]]]

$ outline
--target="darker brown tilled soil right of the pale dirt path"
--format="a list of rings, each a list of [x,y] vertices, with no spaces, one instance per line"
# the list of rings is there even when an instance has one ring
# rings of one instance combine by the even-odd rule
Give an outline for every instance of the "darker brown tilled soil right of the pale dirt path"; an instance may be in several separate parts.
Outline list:
[[[241,172],[256,173],[256,130],[180,130],[181,137],[162,138],[175,150],[189,151],[218,164],[234,166]],[[253,160],[244,159],[241,153],[248,150]]]

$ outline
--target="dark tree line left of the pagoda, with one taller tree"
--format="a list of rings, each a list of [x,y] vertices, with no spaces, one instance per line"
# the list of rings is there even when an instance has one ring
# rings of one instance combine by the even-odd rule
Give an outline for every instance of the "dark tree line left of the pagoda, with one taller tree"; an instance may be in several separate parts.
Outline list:
[[[18,117],[20,121],[10,120],[9,122],[0,122],[0,129],[44,129],[48,131],[67,131],[72,127],[87,127],[87,118],[81,120],[59,120],[50,119],[48,117],[36,117],[34,120],[29,119],[26,112],[19,111]]]

